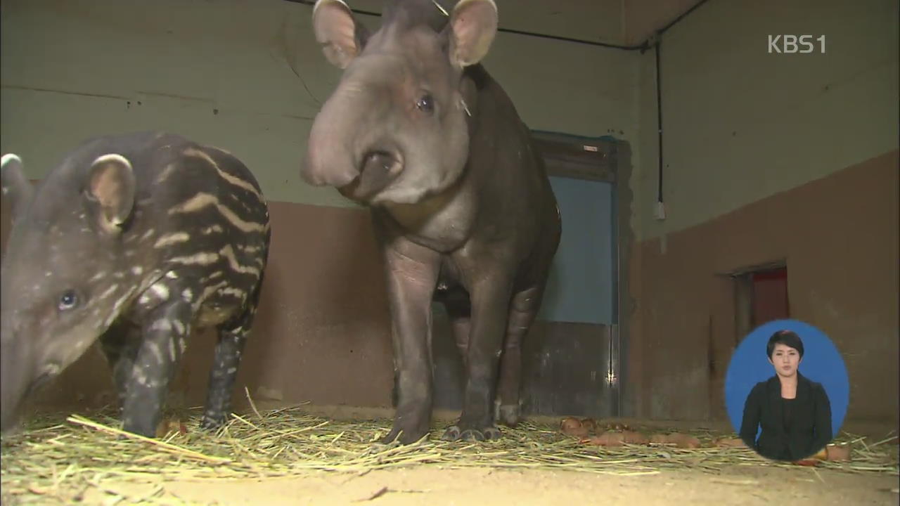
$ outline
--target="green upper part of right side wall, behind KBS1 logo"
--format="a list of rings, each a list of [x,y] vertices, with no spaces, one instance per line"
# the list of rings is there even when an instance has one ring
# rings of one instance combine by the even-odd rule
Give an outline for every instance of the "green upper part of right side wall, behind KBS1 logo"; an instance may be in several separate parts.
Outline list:
[[[642,239],[897,149],[896,0],[711,0],[662,36],[663,199],[653,51],[641,61],[635,212]],[[770,34],[825,53],[770,54]],[[815,42],[818,44],[818,42]],[[839,203],[835,203],[839,205]]]

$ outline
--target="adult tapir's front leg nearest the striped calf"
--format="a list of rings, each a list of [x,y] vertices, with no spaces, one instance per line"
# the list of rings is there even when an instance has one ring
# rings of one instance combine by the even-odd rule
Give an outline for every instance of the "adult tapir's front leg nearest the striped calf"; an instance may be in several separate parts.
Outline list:
[[[390,443],[399,436],[406,445],[428,433],[431,418],[431,298],[440,260],[434,251],[406,239],[396,239],[384,248],[384,260],[397,411],[393,429],[383,442]]]

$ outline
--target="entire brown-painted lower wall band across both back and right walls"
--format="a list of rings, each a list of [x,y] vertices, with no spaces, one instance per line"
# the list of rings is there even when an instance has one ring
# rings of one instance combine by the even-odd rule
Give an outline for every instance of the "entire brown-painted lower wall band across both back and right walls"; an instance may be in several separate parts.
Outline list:
[[[631,398],[623,400],[635,412],[625,414],[724,419],[722,379],[739,336],[733,282],[716,273],[787,258],[791,316],[827,332],[844,354],[852,382],[849,419],[896,425],[897,164],[895,151],[772,195],[669,235],[664,253],[661,239],[635,245],[627,280],[636,303],[627,336]],[[254,334],[238,373],[236,408],[246,407],[245,385],[260,401],[390,407],[390,322],[368,213],[270,206],[272,250]],[[8,228],[4,205],[4,244]],[[534,345],[529,356],[562,360],[572,355],[566,347],[578,349],[575,341],[590,343],[597,334],[570,327],[538,323],[528,337]],[[174,385],[188,405],[203,401],[213,341],[209,334],[195,336],[188,348]],[[583,357],[597,355],[594,366],[604,363],[597,353],[584,351]],[[585,375],[562,363],[525,369],[536,375],[531,380],[536,392],[549,389],[544,398],[555,396],[547,405],[570,411],[572,402],[561,395],[602,394],[593,367],[581,367]],[[61,409],[110,402],[107,371],[92,348],[37,403]],[[581,390],[551,392],[560,382]],[[587,398],[579,403],[590,404]]]

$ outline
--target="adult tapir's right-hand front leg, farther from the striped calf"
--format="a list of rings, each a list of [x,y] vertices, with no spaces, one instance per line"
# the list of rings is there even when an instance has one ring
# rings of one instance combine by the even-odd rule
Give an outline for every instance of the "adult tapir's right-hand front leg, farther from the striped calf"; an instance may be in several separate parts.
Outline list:
[[[499,269],[473,285],[463,412],[459,423],[446,429],[446,440],[500,438],[493,404],[511,292],[511,276]]]

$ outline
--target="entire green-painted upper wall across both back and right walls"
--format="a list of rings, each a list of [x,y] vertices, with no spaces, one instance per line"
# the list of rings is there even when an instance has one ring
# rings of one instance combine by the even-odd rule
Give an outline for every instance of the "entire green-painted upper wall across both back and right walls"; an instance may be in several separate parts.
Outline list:
[[[538,0],[498,5],[501,26],[563,30]],[[656,12],[626,12],[633,4],[620,0],[564,5],[596,19],[572,29],[584,36],[596,26],[596,41],[621,42],[626,20],[640,25]],[[29,176],[86,137],[165,129],[233,151],[269,199],[351,205],[298,173],[339,77],[313,40],[309,5],[5,0],[0,11],[0,149],[21,155]],[[896,19],[895,0],[709,0],[666,32],[665,221],[653,218],[653,51],[501,32],[485,66],[532,129],[632,143],[632,226],[650,239],[896,149]],[[769,54],[778,33],[824,34],[826,53]]]

